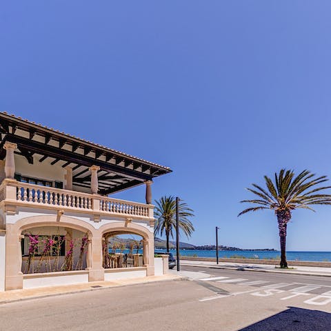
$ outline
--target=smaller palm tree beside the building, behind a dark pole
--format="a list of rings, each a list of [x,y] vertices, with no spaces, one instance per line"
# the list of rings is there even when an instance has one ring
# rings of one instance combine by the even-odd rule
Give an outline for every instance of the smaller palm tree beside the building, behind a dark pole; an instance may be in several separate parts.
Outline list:
[[[163,232],[167,241],[167,252],[169,252],[169,238],[173,238],[173,231],[176,230],[176,199],[172,196],[161,197],[159,201],[155,200],[155,218],[157,221],[154,226],[154,234]],[[189,217],[193,217],[193,210],[188,208],[187,203],[180,202],[178,208],[179,216],[179,228],[187,237],[190,237],[194,231],[192,223],[188,220]]]

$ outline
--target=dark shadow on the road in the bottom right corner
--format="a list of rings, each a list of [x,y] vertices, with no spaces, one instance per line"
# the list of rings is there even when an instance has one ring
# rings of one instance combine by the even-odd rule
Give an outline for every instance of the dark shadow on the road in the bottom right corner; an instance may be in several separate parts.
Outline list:
[[[331,314],[320,310],[290,307],[239,331],[327,331],[331,330]]]

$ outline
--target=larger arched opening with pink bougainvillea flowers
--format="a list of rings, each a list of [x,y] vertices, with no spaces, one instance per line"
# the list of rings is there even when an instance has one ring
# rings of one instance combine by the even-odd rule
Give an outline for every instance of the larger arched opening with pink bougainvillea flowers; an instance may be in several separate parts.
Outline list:
[[[21,232],[23,274],[87,267],[88,232],[68,226],[31,225]]]

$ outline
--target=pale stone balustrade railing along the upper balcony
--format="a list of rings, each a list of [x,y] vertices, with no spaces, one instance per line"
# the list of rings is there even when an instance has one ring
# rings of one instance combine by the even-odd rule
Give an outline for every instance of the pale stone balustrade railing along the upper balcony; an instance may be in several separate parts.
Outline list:
[[[0,201],[12,203],[13,200],[36,206],[47,205],[93,213],[100,212],[149,219],[153,217],[152,205],[5,179],[0,185]]]

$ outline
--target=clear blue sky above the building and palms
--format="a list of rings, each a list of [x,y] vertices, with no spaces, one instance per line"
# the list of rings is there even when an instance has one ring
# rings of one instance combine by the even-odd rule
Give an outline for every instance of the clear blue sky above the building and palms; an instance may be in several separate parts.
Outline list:
[[[0,110],[168,165],[190,243],[279,248],[245,187],[331,176],[331,2],[3,1]],[[143,187],[116,197],[144,200]],[[288,250],[331,250],[331,207],[293,212]],[[184,238],[182,238],[183,241]]]

